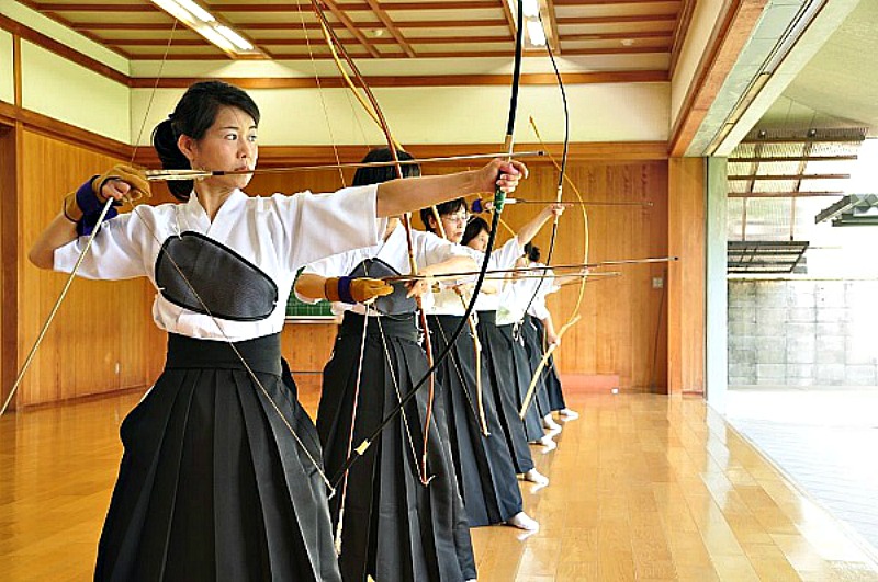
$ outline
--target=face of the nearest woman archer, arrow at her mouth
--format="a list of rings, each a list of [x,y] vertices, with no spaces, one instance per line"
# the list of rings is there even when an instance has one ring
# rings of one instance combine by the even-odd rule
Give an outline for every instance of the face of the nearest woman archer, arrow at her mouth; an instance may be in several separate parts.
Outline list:
[[[221,107],[201,139],[183,135],[178,145],[196,170],[254,170],[259,157],[256,122],[238,107]],[[234,190],[245,187],[251,178],[252,174],[221,175],[207,178],[204,183]]]

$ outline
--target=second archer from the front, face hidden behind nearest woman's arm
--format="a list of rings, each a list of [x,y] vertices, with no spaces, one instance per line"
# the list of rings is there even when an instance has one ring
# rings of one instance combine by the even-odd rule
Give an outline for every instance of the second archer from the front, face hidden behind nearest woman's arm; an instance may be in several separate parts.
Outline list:
[[[397,152],[404,160],[412,156]],[[391,160],[389,149],[376,149],[364,162]],[[419,169],[405,164],[406,175]],[[384,183],[393,168],[360,168],[354,185]],[[348,251],[309,264],[299,277],[296,294],[307,300],[323,297],[334,277],[394,275],[408,272],[407,232],[392,218],[379,244]],[[440,275],[477,267],[461,247],[436,235],[412,231],[414,259],[421,275]],[[352,445],[369,436],[427,373],[414,296],[428,285],[419,281],[375,301],[374,307],[333,303],[344,320],[323,373],[317,432],[324,463],[335,475],[351,455]],[[426,343],[426,342],[425,342]],[[441,385],[437,392],[441,393]],[[342,479],[329,507],[340,549],[341,575],[347,581],[475,579],[475,559],[469,523],[458,491],[448,443],[442,398],[423,434],[429,392],[419,390],[387,425],[358,464]],[[420,452],[427,438],[426,468]],[[423,471],[429,471],[424,486]]]

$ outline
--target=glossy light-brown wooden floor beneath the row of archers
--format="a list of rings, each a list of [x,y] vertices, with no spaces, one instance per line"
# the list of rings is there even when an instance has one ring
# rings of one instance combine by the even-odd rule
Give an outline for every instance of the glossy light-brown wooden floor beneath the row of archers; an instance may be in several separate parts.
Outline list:
[[[0,419],[0,580],[87,580],[138,395]],[[314,409],[316,395],[303,390]],[[574,395],[541,523],[473,530],[480,580],[876,580],[838,523],[697,398]]]

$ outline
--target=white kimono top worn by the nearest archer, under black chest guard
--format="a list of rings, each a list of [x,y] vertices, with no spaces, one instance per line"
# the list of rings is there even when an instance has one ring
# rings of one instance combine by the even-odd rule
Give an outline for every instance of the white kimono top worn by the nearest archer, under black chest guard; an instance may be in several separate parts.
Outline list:
[[[278,286],[278,303],[267,319],[233,321],[196,313],[168,301],[153,304],[153,319],[170,333],[205,340],[243,341],[278,333],[296,271],[307,263],[381,240],[385,219],[375,219],[378,186],[342,189],[333,194],[249,197],[236,190],[213,221],[192,197],[182,204],[138,206],[103,225],[78,274],[95,279],[149,277],[162,243],[196,231],[257,265]],[[70,241],[55,251],[56,271],[69,273],[86,243]]]

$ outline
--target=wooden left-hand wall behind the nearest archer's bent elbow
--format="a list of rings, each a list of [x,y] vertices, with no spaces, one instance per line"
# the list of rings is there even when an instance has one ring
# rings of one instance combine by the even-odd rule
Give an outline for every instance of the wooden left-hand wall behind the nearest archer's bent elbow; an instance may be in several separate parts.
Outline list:
[[[19,361],[30,351],[65,276],[26,260],[65,193],[120,160],[25,130],[19,193]],[[153,324],[154,292],[146,279],[79,279],[61,306],[22,385],[19,406],[37,404],[151,384],[164,353]]]

